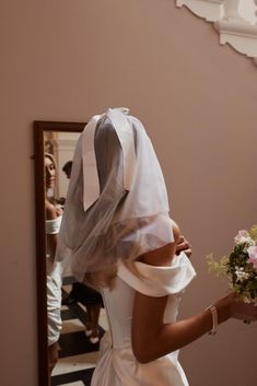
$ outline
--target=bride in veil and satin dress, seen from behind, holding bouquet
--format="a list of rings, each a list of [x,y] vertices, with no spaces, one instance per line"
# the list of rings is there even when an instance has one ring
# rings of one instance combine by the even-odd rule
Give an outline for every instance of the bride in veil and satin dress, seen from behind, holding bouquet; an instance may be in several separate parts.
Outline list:
[[[142,124],[127,109],[94,116],[77,145],[57,248],[57,259],[70,259],[78,280],[103,294],[109,331],[92,386],[186,386],[179,348],[230,317],[257,318],[257,307],[230,294],[176,321],[196,273],[168,212]]]

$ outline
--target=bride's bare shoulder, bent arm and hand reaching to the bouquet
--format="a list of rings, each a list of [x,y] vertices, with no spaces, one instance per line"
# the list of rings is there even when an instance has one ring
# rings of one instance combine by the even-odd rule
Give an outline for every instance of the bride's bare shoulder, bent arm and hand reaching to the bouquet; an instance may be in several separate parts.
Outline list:
[[[154,266],[171,265],[176,243],[141,256],[140,261]],[[132,349],[137,360],[148,363],[191,343],[212,329],[212,314],[203,311],[185,320],[164,324],[167,296],[152,297],[136,292],[132,317]],[[257,319],[257,307],[237,301],[230,294],[214,303],[218,323],[230,317]]]

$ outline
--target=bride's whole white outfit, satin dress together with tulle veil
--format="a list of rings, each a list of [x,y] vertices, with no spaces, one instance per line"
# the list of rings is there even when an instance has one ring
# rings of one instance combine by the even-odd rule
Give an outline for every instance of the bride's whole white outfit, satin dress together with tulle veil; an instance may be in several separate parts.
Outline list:
[[[163,173],[143,125],[126,108],[93,116],[77,144],[56,254],[57,261],[70,261],[79,281],[118,265],[114,289],[102,291],[109,331],[91,386],[188,385],[177,351],[142,364],[131,348],[136,291],[168,295],[164,323],[173,323],[182,292],[195,276],[185,253],[170,267],[137,261],[139,276],[126,267],[174,243],[171,227]]]

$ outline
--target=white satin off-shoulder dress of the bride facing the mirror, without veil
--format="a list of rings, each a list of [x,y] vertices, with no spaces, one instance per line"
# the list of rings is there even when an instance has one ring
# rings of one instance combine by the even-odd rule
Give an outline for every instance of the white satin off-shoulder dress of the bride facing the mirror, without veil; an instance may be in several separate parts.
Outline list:
[[[178,351],[145,364],[137,361],[131,348],[131,320],[138,291],[148,296],[168,295],[164,323],[175,321],[182,293],[196,276],[195,269],[185,253],[174,257],[168,267],[138,261],[136,268],[140,276],[119,262],[115,288],[102,291],[109,330],[101,341],[91,386],[188,386]]]

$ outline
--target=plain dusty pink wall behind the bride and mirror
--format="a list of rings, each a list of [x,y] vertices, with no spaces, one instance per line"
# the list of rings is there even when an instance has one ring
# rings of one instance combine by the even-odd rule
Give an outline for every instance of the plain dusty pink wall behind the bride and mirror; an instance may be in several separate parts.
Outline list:
[[[1,3],[3,386],[37,384],[33,120],[84,121],[129,106],[144,122],[199,272],[183,315],[225,292],[206,254],[226,253],[236,231],[257,221],[257,68],[174,3]],[[236,321],[180,355],[190,386],[253,386],[255,358],[256,326]]]

